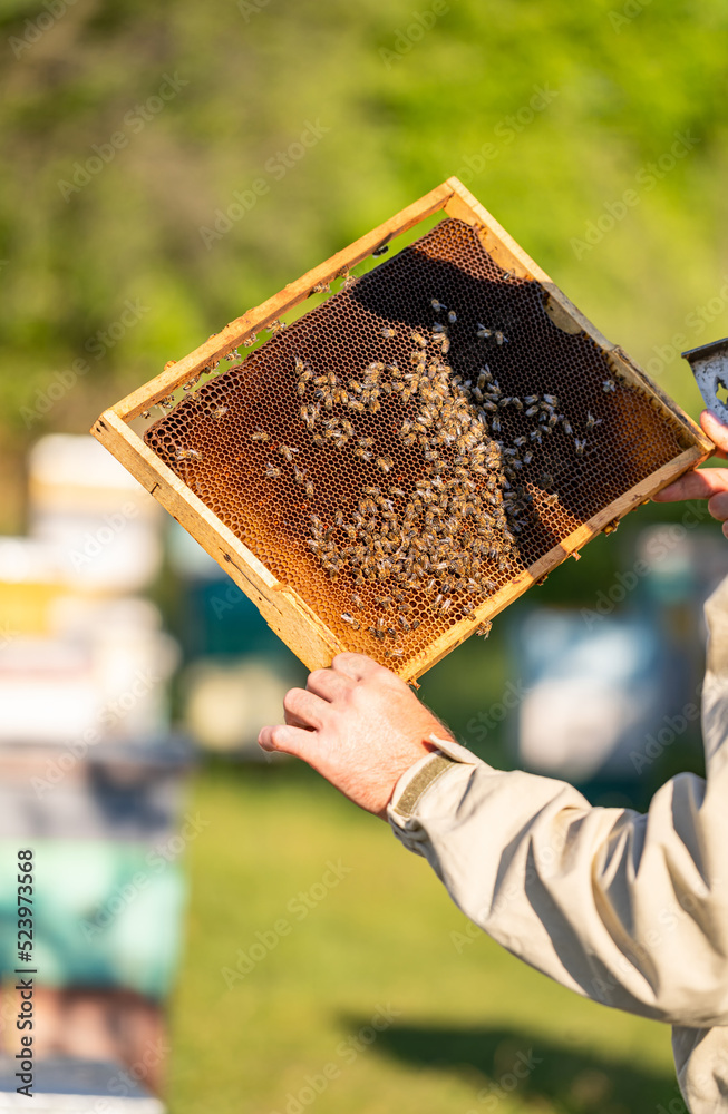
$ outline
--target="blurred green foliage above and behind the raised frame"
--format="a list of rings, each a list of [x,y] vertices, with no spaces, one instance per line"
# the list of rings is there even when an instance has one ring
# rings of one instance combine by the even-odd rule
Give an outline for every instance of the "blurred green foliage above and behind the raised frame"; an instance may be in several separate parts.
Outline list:
[[[86,429],[166,360],[458,170],[606,335],[697,410],[687,368],[654,348],[726,331],[725,6],[635,3],[633,18],[606,0],[436,7],[447,10],[426,6],[418,23],[401,0],[54,0],[58,18],[6,3],[7,452],[45,429]],[[176,91],[157,110],[148,98],[165,75]],[[536,88],[547,104],[524,124]],[[328,130],[282,167],[276,153],[308,121]],[[699,141],[576,258],[572,242],[676,133]],[[77,187],[94,146],[119,134],[125,145]],[[261,178],[268,190],[206,246],[201,229]],[[721,286],[709,323],[686,324]],[[144,317],[99,353],[97,332],[127,299]],[[79,358],[86,374],[41,414],[38,399]]]

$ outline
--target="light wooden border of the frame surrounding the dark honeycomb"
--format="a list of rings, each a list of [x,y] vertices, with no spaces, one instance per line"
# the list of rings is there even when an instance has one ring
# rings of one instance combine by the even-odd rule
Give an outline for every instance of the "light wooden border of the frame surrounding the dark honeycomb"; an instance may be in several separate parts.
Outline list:
[[[304,301],[313,292],[314,286],[330,282],[338,274],[361,263],[377,247],[384,246],[395,236],[439,211],[472,225],[485,250],[502,267],[513,271],[520,277],[540,283],[545,294],[546,312],[554,324],[567,333],[584,332],[591,336],[605,353],[615,375],[637,387],[651,399],[657,409],[677,418],[683,429],[681,441],[683,451],[646,480],[614,499],[526,571],[499,589],[494,597],[478,607],[475,618],[454,623],[445,634],[430,643],[419,657],[410,661],[400,671],[406,681],[420,676],[464,642],[484,617],[503,610],[566,557],[572,554],[577,555],[586,541],[601,531],[609,531],[625,514],[647,501],[676,477],[707,459],[714,451],[712,442],[706,438],[702,430],[644,375],[625,352],[602,336],[457,178],[448,178],[443,185],[412,205],[408,205],[326,263],[321,263],[295,282],[289,283],[266,302],[254,310],[249,310],[242,317],[236,317],[190,355],[168,364],[162,374],[106,410],[91,429],[101,444],[120,460],[147,491],[229,573],[235,584],[258,606],[269,626],[309,668],[328,666],[331,658],[346,648],[339,637],[290,585],[279,582],[179,477],[147,448],[128,422],[169,395],[181,384],[223,359],[252,333]]]

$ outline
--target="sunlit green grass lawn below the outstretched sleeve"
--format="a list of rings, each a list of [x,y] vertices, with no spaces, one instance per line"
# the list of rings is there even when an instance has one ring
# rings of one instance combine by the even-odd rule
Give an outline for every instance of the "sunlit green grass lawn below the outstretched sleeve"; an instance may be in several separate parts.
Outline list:
[[[674,1097],[668,1027],[470,939],[425,861],[308,770],[214,765],[192,803],[210,827],[188,861],[172,1114],[643,1114]],[[328,861],[350,872],[321,897]],[[289,908],[312,887],[305,916]],[[229,988],[223,968],[281,918],[290,934]],[[369,1046],[341,1045],[372,1018]]]

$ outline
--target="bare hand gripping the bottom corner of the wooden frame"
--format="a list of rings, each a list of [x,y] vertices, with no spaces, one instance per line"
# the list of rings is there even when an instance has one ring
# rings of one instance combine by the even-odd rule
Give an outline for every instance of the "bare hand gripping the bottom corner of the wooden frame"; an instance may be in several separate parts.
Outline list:
[[[363,654],[338,654],[283,701],[285,723],[263,727],[264,751],[295,754],[344,797],[386,817],[399,778],[449,731],[404,681]]]

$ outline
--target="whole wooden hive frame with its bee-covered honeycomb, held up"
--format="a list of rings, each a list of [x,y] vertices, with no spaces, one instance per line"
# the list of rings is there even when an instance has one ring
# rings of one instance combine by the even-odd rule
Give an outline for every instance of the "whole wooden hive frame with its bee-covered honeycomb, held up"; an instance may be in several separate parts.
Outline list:
[[[712,449],[457,178],[93,432],[309,667],[349,649],[408,681]]]

